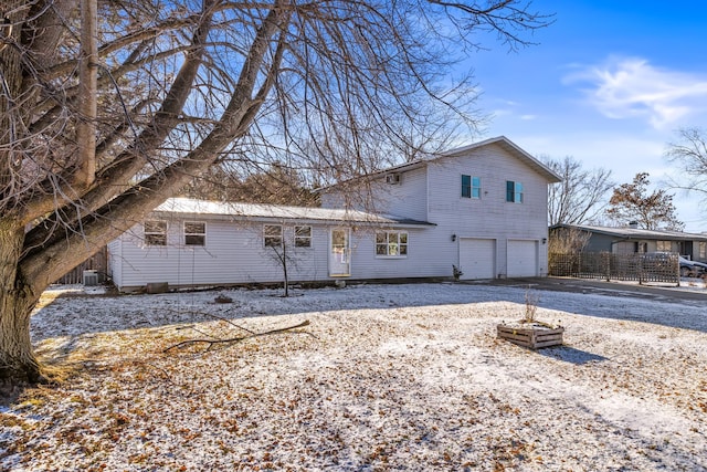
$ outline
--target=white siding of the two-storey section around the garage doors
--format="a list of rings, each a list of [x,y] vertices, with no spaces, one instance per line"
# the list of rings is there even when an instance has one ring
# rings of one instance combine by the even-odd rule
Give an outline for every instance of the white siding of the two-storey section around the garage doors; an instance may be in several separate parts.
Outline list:
[[[507,274],[508,240],[538,241],[538,275],[547,275],[547,180],[496,145],[474,149],[467,157],[442,158],[428,167],[428,221],[434,235],[425,238],[423,259],[431,275],[452,274],[458,264],[462,238],[496,240],[497,276]],[[462,198],[462,175],[481,177],[481,199]],[[506,202],[506,181],[521,182],[524,202]],[[394,209],[391,210],[394,212]],[[456,241],[452,241],[456,234]]]

